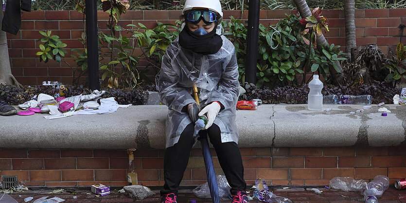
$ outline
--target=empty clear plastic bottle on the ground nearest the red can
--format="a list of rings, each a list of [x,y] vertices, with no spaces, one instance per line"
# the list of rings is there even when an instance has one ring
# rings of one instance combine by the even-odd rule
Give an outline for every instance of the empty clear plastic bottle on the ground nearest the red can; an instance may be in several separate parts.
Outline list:
[[[373,180],[368,183],[367,189],[364,191],[366,203],[376,203],[377,198],[384,194],[385,190],[389,187],[389,178],[384,175],[377,175]]]

